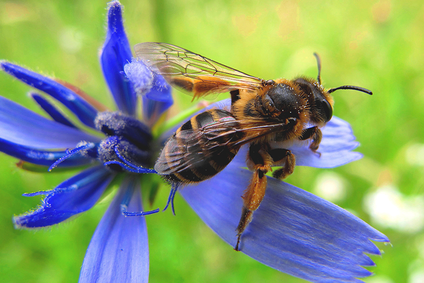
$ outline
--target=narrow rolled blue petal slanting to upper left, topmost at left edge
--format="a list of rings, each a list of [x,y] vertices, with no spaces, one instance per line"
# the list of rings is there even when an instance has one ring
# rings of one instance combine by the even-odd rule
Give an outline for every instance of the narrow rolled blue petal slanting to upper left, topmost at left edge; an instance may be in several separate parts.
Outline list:
[[[71,110],[82,123],[89,127],[94,127],[94,118],[97,115],[97,110],[74,91],[52,80],[51,78],[42,76],[18,65],[1,61],[0,66],[6,73],[32,87],[44,91],[48,95],[51,95],[69,108],[69,110]]]

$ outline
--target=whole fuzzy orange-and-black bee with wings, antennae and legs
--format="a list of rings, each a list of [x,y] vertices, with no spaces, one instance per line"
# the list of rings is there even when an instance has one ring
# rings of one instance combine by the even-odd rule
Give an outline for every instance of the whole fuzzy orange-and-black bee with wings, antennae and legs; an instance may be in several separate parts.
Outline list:
[[[293,173],[296,158],[288,145],[309,142],[317,151],[320,130],[333,115],[330,93],[368,89],[344,85],[325,90],[321,85],[321,62],[317,79],[264,80],[217,63],[209,58],[167,44],[145,42],[134,47],[137,56],[169,84],[194,98],[229,92],[229,111],[211,109],[192,117],[167,141],[155,170],[174,186],[199,183],[223,170],[244,144],[249,145],[247,167],[252,177],[243,193],[243,207],[236,227],[240,237],[259,207],[267,185],[266,173],[280,180]],[[273,170],[273,167],[278,169]]]

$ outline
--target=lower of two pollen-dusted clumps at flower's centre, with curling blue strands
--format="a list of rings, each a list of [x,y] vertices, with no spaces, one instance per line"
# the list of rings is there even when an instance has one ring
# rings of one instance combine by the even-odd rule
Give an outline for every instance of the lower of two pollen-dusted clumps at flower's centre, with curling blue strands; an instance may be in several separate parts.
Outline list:
[[[154,173],[150,171],[152,169],[147,169],[151,167],[150,151],[141,150],[123,137],[112,136],[102,140],[98,153],[100,161],[112,170],[120,172],[126,169],[134,173]]]

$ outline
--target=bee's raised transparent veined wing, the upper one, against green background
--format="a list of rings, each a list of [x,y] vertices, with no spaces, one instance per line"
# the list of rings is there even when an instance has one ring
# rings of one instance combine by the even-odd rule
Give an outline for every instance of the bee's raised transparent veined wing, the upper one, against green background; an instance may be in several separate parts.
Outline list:
[[[134,50],[152,71],[194,97],[235,89],[255,90],[265,85],[260,78],[172,44],[144,42],[136,44]]]

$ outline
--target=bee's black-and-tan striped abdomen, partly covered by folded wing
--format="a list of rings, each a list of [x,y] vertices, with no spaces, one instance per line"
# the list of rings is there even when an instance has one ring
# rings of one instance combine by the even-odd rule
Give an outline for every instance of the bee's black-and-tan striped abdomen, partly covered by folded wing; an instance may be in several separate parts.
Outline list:
[[[212,109],[192,117],[168,140],[155,170],[170,182],[196,183],[224,169],[240,146],[239,123],[225,110]]]

